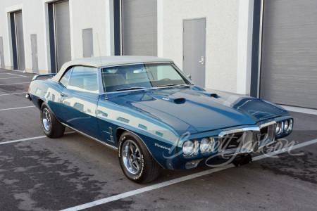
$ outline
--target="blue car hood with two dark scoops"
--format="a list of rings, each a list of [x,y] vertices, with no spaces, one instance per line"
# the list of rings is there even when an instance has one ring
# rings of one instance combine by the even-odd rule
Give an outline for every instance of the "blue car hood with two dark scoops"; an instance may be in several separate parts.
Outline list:
[[[116,103],[142,110],[172,124],[178,130],[179,127],[173,124],[185,122],[187,127],[197,132],[256,124],[261,120],[287,114],[280,106],[258,98],[199,87],[128,91],[118,94]]]

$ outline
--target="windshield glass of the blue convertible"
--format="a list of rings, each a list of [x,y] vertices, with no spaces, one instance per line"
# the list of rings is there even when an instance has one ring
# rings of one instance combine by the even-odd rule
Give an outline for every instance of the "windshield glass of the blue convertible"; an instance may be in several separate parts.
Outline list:
[[[102,68],[101,75],[105,92],[190,84],[171,64],[136,64]]]

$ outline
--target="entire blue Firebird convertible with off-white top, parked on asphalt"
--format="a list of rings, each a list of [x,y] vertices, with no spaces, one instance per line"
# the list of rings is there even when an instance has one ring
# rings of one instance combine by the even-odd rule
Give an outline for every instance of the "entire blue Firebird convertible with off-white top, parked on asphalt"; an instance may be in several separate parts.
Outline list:
[[[161,167],[251,162],[251,153],[293,128],[280,106],[195,86],[168,59],[82,58],[51,75],[36,75],[26,96],[40,110],[44,134],[58,138],[69,127],[116,149],[137,183],[153,181]]]

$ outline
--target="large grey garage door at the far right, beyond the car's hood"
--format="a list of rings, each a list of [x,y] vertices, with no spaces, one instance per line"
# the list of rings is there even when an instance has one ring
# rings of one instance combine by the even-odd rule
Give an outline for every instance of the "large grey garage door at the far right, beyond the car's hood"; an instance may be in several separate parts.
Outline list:
[[[317,1],[265,0],[260,97],[317,109]]]

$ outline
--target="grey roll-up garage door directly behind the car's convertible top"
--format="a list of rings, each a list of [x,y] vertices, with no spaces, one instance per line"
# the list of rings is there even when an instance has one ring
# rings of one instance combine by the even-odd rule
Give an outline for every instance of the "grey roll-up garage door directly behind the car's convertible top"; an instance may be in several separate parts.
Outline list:
[[[157,56],[157,1],[122,0],[123,55]]]

